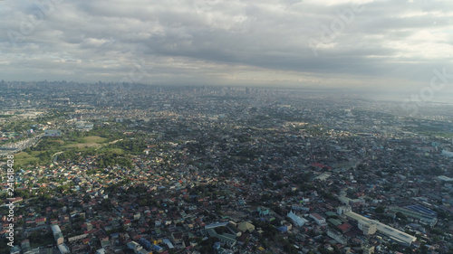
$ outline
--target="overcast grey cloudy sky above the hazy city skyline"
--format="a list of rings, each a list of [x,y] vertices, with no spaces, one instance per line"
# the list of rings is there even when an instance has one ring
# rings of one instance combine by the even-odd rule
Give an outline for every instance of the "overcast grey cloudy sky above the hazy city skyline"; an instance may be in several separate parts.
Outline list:
[[[4,0],[0,16],[3,80],[417,91],[453,73],[451,0]]]

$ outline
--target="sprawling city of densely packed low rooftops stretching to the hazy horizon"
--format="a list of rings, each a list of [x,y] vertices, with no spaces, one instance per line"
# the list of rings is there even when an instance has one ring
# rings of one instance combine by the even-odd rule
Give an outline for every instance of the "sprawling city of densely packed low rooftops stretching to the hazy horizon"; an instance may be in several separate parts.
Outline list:
[[[10,197],[2,171],[2,253],[453,253],[452,106],[412,116],[303,90],[0,87],[1,164],[14,155],[15,177]]]

